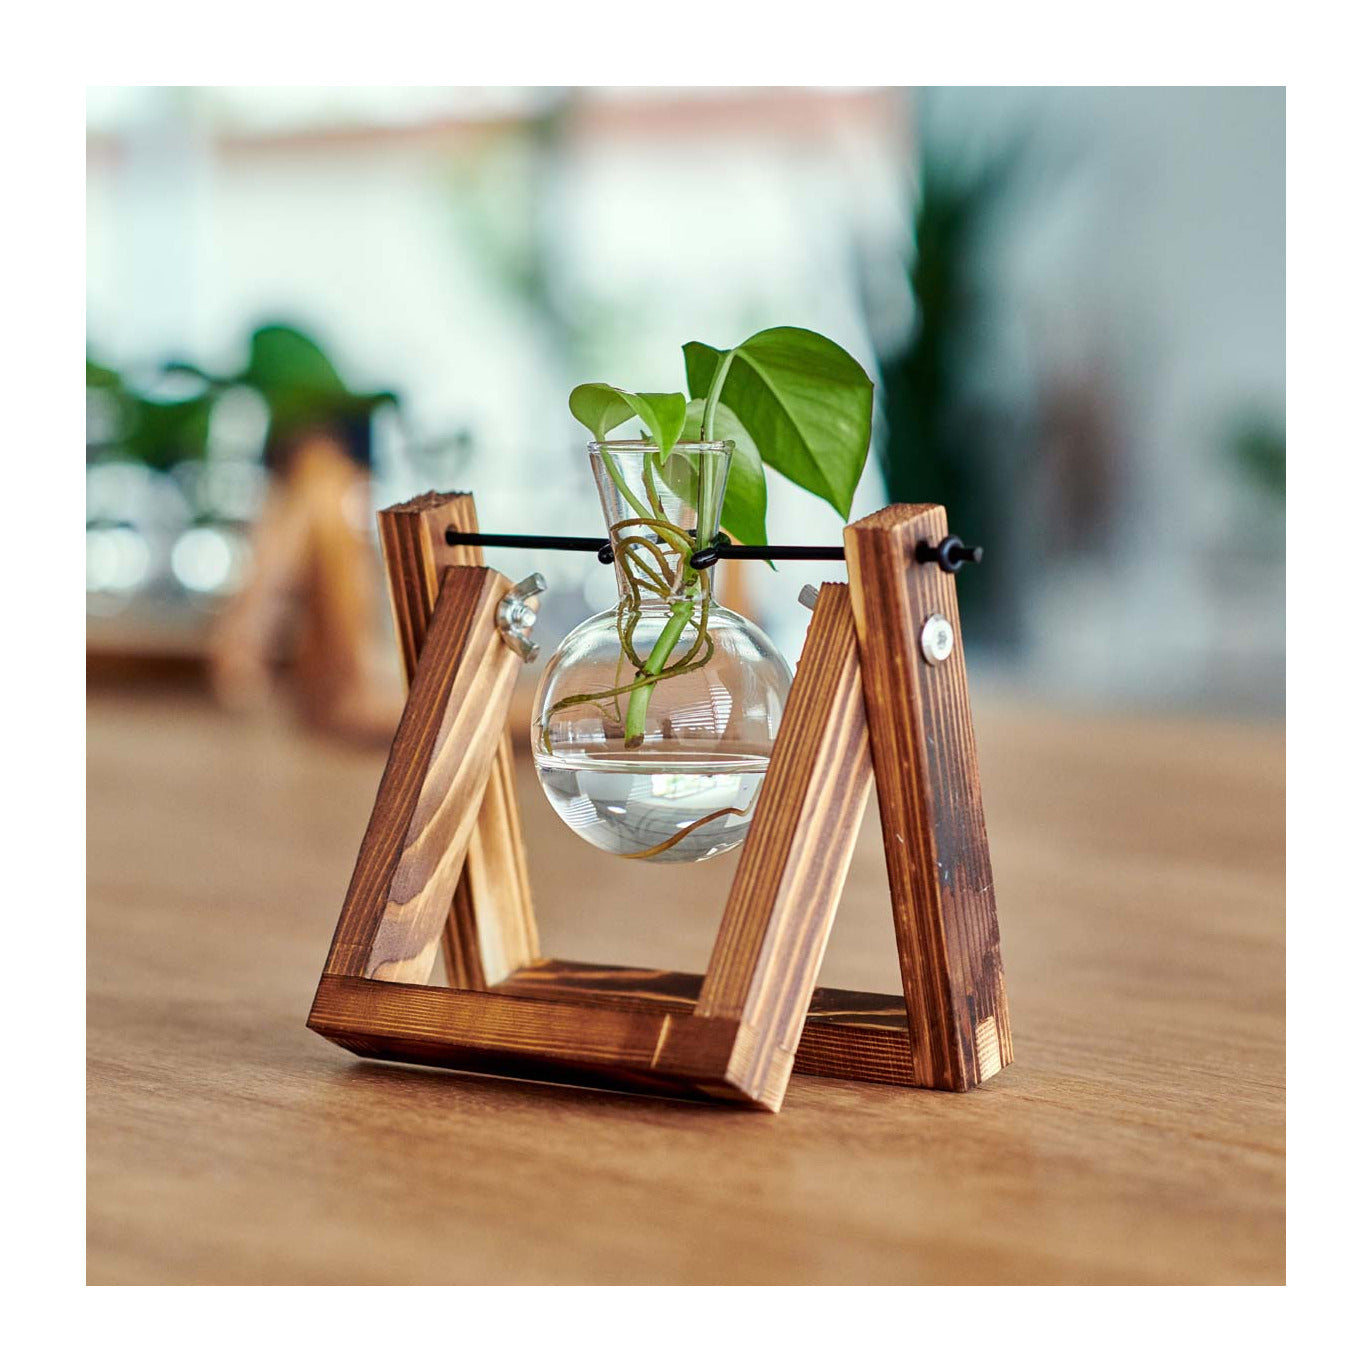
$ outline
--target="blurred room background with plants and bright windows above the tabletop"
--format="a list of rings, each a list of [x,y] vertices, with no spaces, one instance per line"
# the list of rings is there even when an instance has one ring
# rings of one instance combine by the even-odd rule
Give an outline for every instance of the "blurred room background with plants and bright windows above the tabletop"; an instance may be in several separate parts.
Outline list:
[[[569,387],[676,390],[683,342],[785,322],[878,381],[853,514],[940,501],[985,545],[977,681],[1279,715],[1284,119],[1243,88],[91,89],[89,679],[243,705],[287,672],[384,734],[373,512],[473,490],[487,530],[597,534]],[[307,479],[296,429],[329,436]],[[292,482],[350,521],[342,593]],[[838,541],[770,498],[774,539]],[[549,648],[615,598],[584,556],[498,563],[547,576]],[[730,572],[794,659],[831,568]]]

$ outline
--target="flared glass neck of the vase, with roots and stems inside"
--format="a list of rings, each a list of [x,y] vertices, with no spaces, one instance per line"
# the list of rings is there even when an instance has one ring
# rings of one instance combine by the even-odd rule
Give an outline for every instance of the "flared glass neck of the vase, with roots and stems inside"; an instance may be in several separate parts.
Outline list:
[[[591,443],[620,598],[709,597],[709,573],[691,553],[719,534],[734,445],[681,443],[663,460],[650,443]]]

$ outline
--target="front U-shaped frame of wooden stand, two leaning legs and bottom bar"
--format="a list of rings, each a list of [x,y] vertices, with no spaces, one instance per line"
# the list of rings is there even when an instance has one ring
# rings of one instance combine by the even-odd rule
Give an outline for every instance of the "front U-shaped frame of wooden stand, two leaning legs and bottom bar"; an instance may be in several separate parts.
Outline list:
[[[871,783],[848,589],[826,586],[819,595],[711,966],[696,1002],[674,1017],[615,989],[591,1000],[541,1000],[532,978],[516,996],[499,993],[509,978],[495,991],[451,988],[447,996],[354,985],[362,975],[427,980],[447,882],[475,825],[471,778],[494,753],[491,711],[509,704],[513,657],[494,626],[473,620],[494,615],[491,597],[508,583],[475,568],[443,576],[310,1028],[365,1056],[612,1080],[779,1110]],[[487,594],[477,611],[479,584]],[[484,679],[494,682],[497,670],[504,693]],[[423,771],[418,759],[431,750]],[[383,879],[388,895],[377,919]],[[819,1070],[852,1074],[848,1058],[882,1080],[908,1070],[903,1017],[892,1034],[889,1017],[871,1030],[842,1022],[840,1008],[827,1006],[816,1022],[809,1056]],[[683,1030],[678,1019],[709,1028]],[[711,1052],[696,1051],[697,1041]]]

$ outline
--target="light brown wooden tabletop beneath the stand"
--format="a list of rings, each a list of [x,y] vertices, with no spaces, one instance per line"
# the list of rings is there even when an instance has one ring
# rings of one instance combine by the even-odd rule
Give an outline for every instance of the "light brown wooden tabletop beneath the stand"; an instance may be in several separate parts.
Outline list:
[[[1280,731],[975,704],[1017,1061],[774,1117],[309,1033],[383,755],[93,697],[89,1280],[1284,1280]],[[545,952],[704,970],[733,858],[637,914],[520,792]],[[899,991],[874,808],[822,981]]]

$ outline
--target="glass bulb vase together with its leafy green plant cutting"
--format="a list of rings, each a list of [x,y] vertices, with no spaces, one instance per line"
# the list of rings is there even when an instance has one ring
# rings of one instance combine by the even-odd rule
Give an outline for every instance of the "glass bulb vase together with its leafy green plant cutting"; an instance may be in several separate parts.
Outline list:
[[[593,435],[620,600],[564,641],[534,719],[564,819],[609,851],[671,860],[742,841],[790,679],[766,635],[715,602],[693,554],[720,530],[767,542],[767,468],[847,519],[873,407],[862,366],[808,329],[687,343],[683,355],[685,394],[571,392]],[[626,425],[637,436],[613,438]]]

